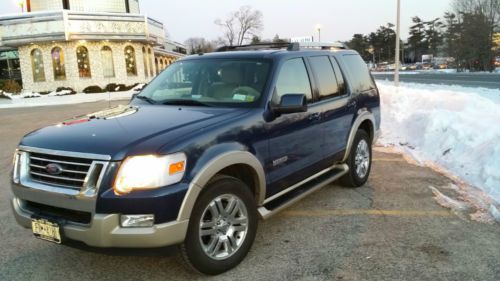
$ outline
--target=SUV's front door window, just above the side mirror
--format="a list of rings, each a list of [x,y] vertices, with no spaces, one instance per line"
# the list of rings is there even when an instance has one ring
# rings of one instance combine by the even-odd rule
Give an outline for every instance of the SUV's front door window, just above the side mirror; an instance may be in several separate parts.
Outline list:
[[[308,101],[312,100],[309,75],[301,58],[288,60],[281,66],[274,102],[278,103],[285,94],[305,94]]]

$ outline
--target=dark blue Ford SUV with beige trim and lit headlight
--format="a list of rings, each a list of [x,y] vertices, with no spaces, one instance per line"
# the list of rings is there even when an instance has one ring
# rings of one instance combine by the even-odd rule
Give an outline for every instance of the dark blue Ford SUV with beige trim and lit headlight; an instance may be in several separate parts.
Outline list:
[[[41,239],[179,245],[219,274],[257,222],[340,180],[363,185],[380,128],[365,62],[334,45],[249,45],[186,57],[128,105],[26,135],[12,207]]]

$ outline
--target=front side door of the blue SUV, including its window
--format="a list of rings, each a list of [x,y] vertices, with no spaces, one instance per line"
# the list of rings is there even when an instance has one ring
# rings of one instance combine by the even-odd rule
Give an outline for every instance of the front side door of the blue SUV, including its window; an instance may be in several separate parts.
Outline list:
[[[272,103],[279,103],[285,94],[305,94],[308,103],[311,103],[313,94],[310,77],[303,58],[285,61],[278,70]],[[267,123],[267,197],[321,169],[321,165],[318,165],[323,160],[320,117],[318,108],[310,107],[307,112],[283,114]]]

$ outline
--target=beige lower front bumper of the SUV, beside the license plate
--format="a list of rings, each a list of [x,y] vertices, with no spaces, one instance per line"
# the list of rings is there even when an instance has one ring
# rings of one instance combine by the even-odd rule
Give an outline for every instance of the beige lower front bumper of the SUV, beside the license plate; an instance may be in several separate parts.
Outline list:
[[[31,228],[34,213],[23,209],[18,198],[12,200],[17,222]],[[157,248],[184,241],[189,220],[156,224],[152,227],[123,228],[119,214],[93,214],[89,225],[62,225],[63,237],[101,248]]]

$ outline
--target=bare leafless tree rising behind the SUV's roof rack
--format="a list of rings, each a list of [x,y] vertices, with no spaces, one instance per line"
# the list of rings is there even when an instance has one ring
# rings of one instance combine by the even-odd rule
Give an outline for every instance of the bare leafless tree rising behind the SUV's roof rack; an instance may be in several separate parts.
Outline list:
[[[215,24],[224,30],[224,38],[229,46],[242,45],[244,41],[257,36],[263,29],[263,15],[250,6],[242,6],[225,20],[217,19]]]

